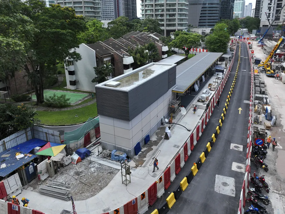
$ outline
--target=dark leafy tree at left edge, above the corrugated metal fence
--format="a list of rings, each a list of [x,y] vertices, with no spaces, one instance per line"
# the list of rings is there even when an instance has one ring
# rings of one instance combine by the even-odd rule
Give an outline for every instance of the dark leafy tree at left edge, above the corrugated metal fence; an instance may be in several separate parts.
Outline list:
[[[17,131],[40,124],[35,116],[36,110],[23,105],[0,104],[0,139],[13,135]]]

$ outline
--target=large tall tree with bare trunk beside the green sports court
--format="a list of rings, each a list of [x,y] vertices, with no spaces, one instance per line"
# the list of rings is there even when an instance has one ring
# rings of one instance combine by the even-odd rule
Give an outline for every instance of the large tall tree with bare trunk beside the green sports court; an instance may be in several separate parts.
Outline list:
[[[23,12],[37,30],[34,36],[28,37],[23,69],[35,91],[37,103],[43,103],[44,81],[54,73],[56,62],[67,64],[68,59],[81,60],[79,53],[69,50],[80,44],[78,34],[86,30],[86,23],[82,16],[75,15],[72,8],[45,7],[45,3],[38,0],[26,1]]]

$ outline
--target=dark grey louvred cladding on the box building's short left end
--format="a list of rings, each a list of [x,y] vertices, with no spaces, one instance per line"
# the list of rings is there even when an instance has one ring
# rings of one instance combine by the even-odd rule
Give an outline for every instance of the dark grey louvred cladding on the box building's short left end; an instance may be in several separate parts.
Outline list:
[[[129,98],[127,92],[99,87],[95,87],[95,89],[99,115],[129,121]]]

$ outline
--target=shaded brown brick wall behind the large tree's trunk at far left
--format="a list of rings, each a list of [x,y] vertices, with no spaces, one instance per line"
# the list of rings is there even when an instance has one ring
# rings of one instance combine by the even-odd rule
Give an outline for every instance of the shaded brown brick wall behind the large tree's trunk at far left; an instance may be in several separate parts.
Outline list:
[[[27,84],[28,79],[27,77],[25,77],[26,74],[27,72],[25,70],[17,71],[15,73],[16,83],[15,83],[14,78],[9,78],[9,86],[10,86],[11,95],[16,94],[16,92],[18,92],[18,94],[23,94],[31,90],[31,85]],[[17,87],[17,91],[16,91],[16,87]]]

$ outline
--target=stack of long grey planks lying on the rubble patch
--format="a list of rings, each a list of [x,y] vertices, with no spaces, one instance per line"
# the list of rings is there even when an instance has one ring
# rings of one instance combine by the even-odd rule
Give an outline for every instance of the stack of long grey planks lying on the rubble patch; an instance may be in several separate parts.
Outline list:
[[[62,199],[65,201],[69,201],[71,199],[69,191],[71,191],[71,189],[69,189],[68,185],[64,183],[56,183],[53,181],[52,183],[45,186],[40,186],[40,194]]]

